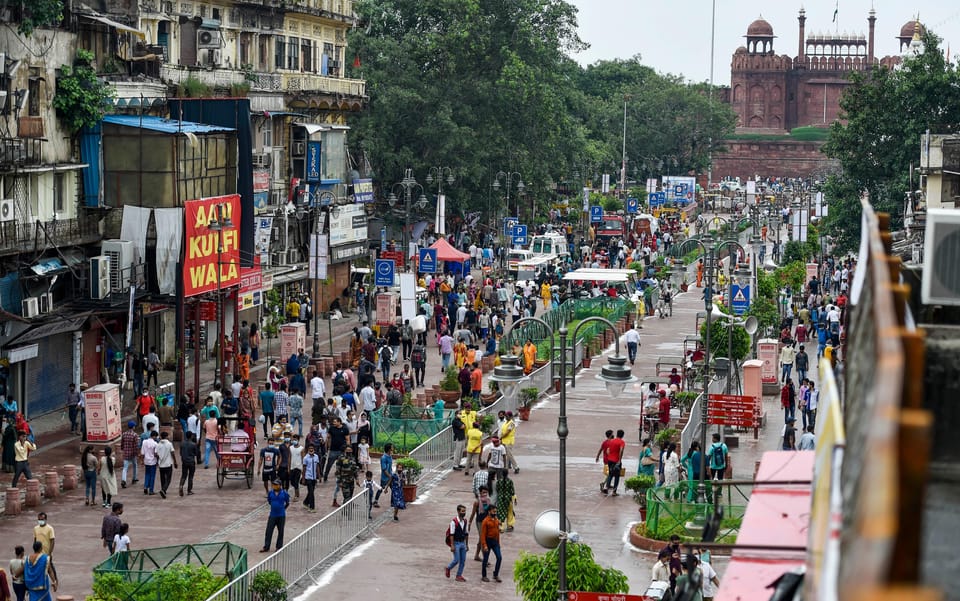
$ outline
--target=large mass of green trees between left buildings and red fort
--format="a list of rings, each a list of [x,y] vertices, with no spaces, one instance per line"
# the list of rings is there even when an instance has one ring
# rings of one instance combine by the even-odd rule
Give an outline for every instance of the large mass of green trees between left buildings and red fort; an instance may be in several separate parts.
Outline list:
[[[553,184],[619,177],[627,100],[628,177],[702,169],[709,142],[734,116],[704,86],[629,60],[581,67],[577,10],[563,0],[361,0],[349,45],[351,75],[370,102],[352,123],[351,150],[389,191],[404,169],[427,186],[450,167],[448,209],[502,215],[499,171],[520,173],[526,198],[546,203]],[[516,179],[511,188],[517,195]],[[538,211],[539,215],[543,211]]]

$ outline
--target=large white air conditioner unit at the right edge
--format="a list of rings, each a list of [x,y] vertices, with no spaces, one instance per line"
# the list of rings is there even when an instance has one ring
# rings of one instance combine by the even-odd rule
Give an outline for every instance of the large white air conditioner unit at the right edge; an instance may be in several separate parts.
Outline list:
[[[960,305],[960,211],[927,210],[923,260],[924,304]]]

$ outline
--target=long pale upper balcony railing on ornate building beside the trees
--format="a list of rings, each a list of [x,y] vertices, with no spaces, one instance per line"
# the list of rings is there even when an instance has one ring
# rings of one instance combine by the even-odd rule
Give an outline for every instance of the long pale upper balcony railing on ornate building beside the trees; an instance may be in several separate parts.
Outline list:
[[[250,75],[253,79],[247,79]],[[166,82],[179,84],[193,77],[208,86],[227,88],[231,85],[249,83],[250,88],[263,92],[314,92],[320,94],[339,94],[363,98],[366,96],[366,81],[362,79],[343,79],[309,73],[263,73],[241,71],[218,67],[204,69],[181,65],[163,65],[160,77]]]

